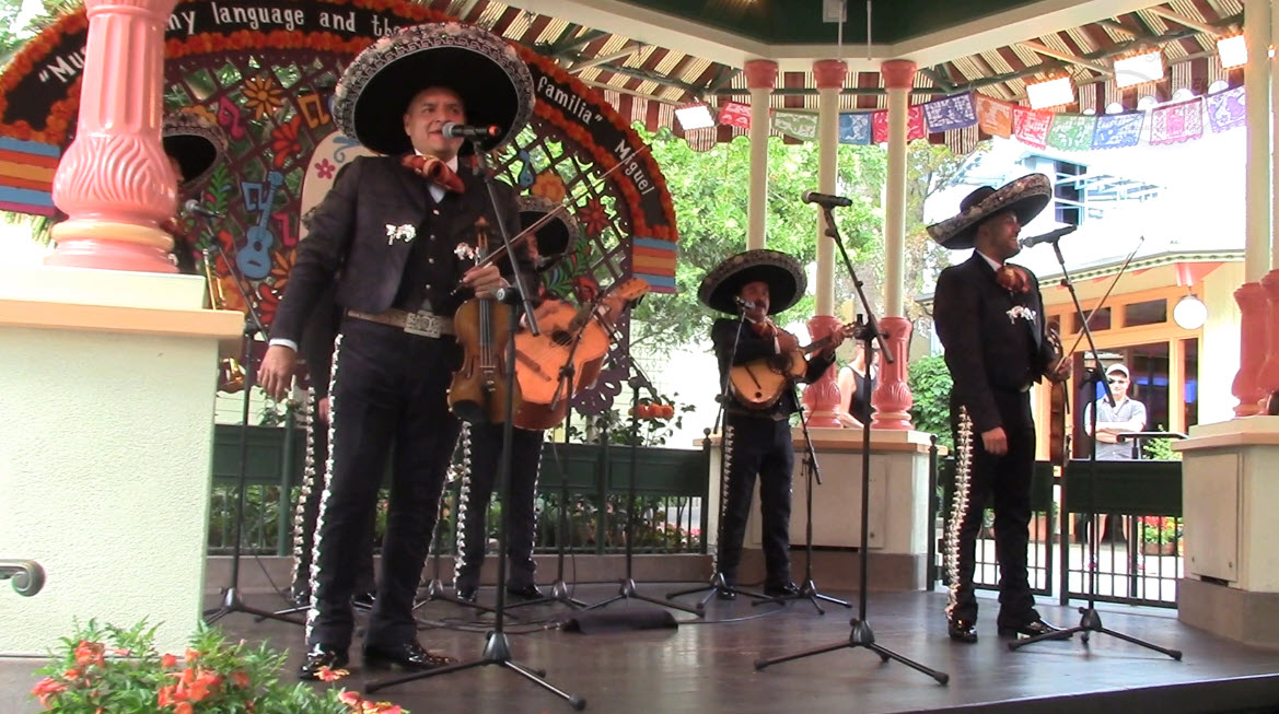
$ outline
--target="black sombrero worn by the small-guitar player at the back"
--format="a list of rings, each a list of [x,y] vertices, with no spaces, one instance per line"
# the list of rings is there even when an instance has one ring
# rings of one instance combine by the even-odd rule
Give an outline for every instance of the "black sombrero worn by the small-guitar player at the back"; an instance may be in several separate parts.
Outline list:
[[[769,314],[776,314],[799,301],[808,287],[803,266],[792,255],[760,248],[726,258],[702,278],[697,299],[712,310],[738,314],[733,298],[747,282],[769,284]]]

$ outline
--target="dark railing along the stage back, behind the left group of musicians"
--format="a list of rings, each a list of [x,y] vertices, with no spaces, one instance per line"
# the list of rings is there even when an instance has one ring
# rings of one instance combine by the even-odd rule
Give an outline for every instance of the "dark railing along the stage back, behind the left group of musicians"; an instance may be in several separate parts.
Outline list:
[[[243,552],[286,556],[292,549],[293,505],[302,476],[304,439],[301,429],[251,427],[246,469]],[[215,430],[214,485],[210,499],[208,553],[230,553],[239,475],[238,425]],[[554,448],[554,451],[553,451]],[[558,452],[558,453],[556,453]],[[629,447],[547,442],[537,489],[535,551],[551,552],[561,535],[576,553],[619,553],[625,548],[627,517],[634,511],[636,553],[705,553],[707,455],[700,450],[640,447],[636,450],[636,503],[628,505]],[[561,480],[568,492],[560,492]],[[444,553],[454,552],[457,490],[445,492]],[[286,496],[286,497],[283,497]],[[385,503],[386,493],[380,499]],[[560,510],[567,503],[561,534]],[[385,526],[379,508],[375,538]],[[489,530],[496,538],[501,502],[490,505]]]

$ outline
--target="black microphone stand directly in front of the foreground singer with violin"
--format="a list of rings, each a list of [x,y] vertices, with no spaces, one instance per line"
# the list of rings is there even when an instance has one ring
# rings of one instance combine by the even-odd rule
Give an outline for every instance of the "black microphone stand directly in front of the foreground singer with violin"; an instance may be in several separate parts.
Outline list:
[[[515,415],[515,331],[519,330],[519,308],[524,310],[524,321],[528,324],[528,331],[532,335],[540,335],[537,328],[537,317],[533,313],[533,307],[531,303],[531,296],[524,282],[524,276],[519,271],[519,262],[515,261],[515,249],[510,245],[510,231],[506,226],[505,218],[503,218],[501,206],[503,202],[498,197],[498,186],[495,185],[496,179],[494,179],[491,170],[489,169],[489,162],[485,158],[483,149],[480,143],[472,141],[472,147],[475,148],[477,172],[485,183],[485,188],[489,189],[489,202],[492,206],[494,216],[498,220],[498,234],[501,236],[501,244],[506,253],[506,261],[510,263],[510,272],[514,278],[515,285],[513,287],[501,287],[495,294],[494,298],[498,301],[506,303],[512,307],[509,310],[509,335],[510,338],[506,340],[506,361],[503,365],[505,374],[503,376],[506,381],[506,407],[505,419],[503,422],[503,447],[501,457],[498,461],[498,471],[500,474],[500,493],[501,502],[510,503],[510,455],[512,455],[512,439],[514,437],[514,424],[513,418]],[[542,687],[544,690],[559,696],[568,701],[569,706],[581,711],[586,709],[586,700],[569,694],[559,687],[551,685],[542,677],[546,676],[545,671],[531,669],[518,662],[513,660],[510,657],[510,639],[505,632],[505,614],[506,614],[506,543],[510,533],[510,508],[503,507],[501,510],[501,526],[498,530],[498,604],[494,611],[494,623],[492,630],[485,637],[483,650],[481,650],[480,658],[471,662],[460,662],[457,664],[449,664],[446,667],[439,667],[436,669],[427,669],[425,672],[414,672],[402,677],[393,677],[389,680],[381,680],[379,682],[372,682],[365,688],[368,692],[373,692],[381,688],[386,688],[394,685],[402,685],[404,682],[414,682],[417,680],[425,680],[427,677],[439,677],[441,674],[451,674],[454,672],[462,672],[464,669],[475,669],[476,667],[498,665],[504,669],[509,669],[530,682]]]

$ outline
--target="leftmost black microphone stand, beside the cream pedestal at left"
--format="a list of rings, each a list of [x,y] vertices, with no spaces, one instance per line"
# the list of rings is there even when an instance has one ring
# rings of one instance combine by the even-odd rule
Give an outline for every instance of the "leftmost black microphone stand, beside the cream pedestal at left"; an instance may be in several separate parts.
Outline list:
[[[223,588],[223,604],[216,608],[210,608],[205,611],[205,622],[212,625],[219,619],[226,617],[231,613],[244,613],[255,616],[256,622],[262,619],[278,619],[280,622],[290,622],[293,625],[303,625],[301,619],[288,617],[284,613],[276,613],[272,611],[266,611],[261,608],[255,608],[244,604],[239,593],[239,562],[240,562],[240,547],[243,545],[244,536],[244,501],[246,490],[248,489],[248,420],[249,420],[249,401],[253,393],[255,374],[257,369],[253,367],[253,338],[256,335],[261,333],[262,337],[269,338],[269,332],[266,326],[262,324],[262,318],[258,317],[253,303],[249,300],[248,291],[244,290],[242,284],[242,277],[235,272],[235,262],[228,259],[226,252],[217,243],[216,239],[212,241],[214,248],[217,254],[221,255],[223,262],[226,263],[226,270],[230,271],[233,282],[235,284],[235,290],[239,291],[240,299],[244,300],[244,335],[240,346],[240,364],[244,365],[244,406],[240,413],[240,439],[239,439],[239,474],[237,476],[237,490],[239,492],[235,497],[235,538],[231,549],[231,581]],[[205,262],[212,259],[212,250],[205,249]],[[207,278],[206,278],[207,280]]]

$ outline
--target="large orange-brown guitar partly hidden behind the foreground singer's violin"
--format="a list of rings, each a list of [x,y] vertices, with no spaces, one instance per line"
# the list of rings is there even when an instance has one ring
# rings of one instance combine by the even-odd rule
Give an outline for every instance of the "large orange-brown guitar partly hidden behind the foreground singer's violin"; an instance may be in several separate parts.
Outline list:
[[[515,411],[521,429],[550,429],[564,420],[569,401],[600,376],[613,344],[613,323],[625,307],[648,292],[648,284],[632,277],[614,284],[600,300],[574,309],[563,300],[546,300],[533,313],[541,335],[515,333],[515,381],[523,400]],[[572,374],[573,381],[565,378]]]

